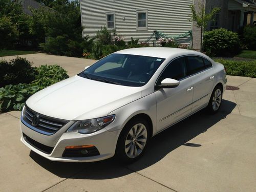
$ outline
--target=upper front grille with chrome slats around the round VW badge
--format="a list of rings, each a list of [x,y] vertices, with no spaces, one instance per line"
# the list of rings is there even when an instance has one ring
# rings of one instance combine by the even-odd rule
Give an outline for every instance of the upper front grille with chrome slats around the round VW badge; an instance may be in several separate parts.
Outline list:
[[[32,123],[33,116],[38,115],[39,120],[36,125]],[[56,133],[63,125],[65,125],[68,121],[62,119],[56,119],[52,117],[48,117],[45,115],[41,115],[31,110],[26,106],[23,113],[23,120],[28,123],[31,127],[35,128],[33,130],[38,131],[39,133],[45,135],[52,135]]]

